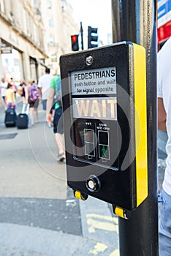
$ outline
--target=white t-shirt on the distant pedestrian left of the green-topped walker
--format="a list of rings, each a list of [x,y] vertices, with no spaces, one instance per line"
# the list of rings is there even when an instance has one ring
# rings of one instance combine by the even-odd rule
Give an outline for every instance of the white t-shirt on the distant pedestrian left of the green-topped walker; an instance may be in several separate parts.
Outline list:
[[[50,82],[53,75],[45,74],[39,78],[38,88],[42,88],[42,99],[47,99],[49,97]]]

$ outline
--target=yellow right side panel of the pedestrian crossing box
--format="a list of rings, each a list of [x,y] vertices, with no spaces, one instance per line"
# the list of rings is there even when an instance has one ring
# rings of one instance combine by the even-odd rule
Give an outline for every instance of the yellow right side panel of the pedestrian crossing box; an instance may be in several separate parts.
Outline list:
[[[148,196],[148,144],[146,102],[145,48],[133,43],[134,48],[134,105],[137,206]]]

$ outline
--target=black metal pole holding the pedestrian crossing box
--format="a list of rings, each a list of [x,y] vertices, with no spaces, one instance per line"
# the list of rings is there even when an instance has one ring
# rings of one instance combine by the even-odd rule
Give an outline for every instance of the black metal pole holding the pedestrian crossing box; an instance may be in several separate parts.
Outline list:
[[[145,47],[147,59],[148,197],[129,220],[119,218],[120,256],[157,256],[156,0],[112,0],[113,42]]]

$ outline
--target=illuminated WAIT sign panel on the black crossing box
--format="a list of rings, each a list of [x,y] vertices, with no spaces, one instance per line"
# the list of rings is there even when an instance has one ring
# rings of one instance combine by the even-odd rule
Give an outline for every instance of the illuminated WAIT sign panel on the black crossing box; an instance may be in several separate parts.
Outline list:
[[[74,118],[117,120],[116,97],[72,98]]]

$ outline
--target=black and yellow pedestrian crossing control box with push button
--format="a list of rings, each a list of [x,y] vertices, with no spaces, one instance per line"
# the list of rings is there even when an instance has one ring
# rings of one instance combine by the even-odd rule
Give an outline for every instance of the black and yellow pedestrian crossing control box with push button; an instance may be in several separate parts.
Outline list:
[[[148,196],[145,64],[132,42],[60,59],[68,185],[121,217]]]

